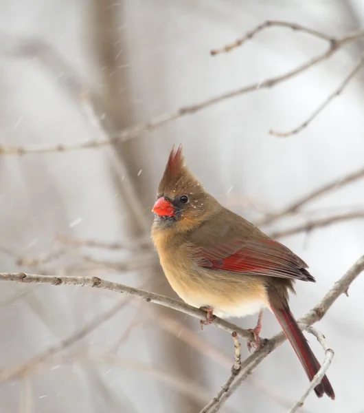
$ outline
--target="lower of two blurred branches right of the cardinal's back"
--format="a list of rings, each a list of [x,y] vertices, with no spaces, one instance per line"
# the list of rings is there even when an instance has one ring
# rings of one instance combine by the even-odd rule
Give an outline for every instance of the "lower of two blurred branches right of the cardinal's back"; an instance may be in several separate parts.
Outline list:
[[[312,220],[311,222],[306,222],[305,224],[300,224],[293,226],[292,228],[282,229],[274,232],[270,232],[269,235],[274,238],[288,237],[290,235],[295,235],[298,233],[310,233],[311,231],[331,224],[336,224],[337,222],[358,220],[364,218],[364,211],[343,213],[341,215],[333,215],[332,217],[320,218],[319,220]]]

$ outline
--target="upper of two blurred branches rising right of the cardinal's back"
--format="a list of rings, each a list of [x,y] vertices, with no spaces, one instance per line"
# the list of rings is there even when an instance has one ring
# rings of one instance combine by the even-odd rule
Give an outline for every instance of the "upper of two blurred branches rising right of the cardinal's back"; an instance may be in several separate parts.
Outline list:
[[[358,169],[357,171],[349,173],[347,176],[343,176],[339,179],[329,182],[328,184],[323,185],[323,187],[308,193],[308,195],[305,195],[303,198],[299,198],[299,200],[282,209],[282,211],[267,215],[266,218],[258,222],[257,225],[262,226],[271,224],[273,221],[299,211],[299,209],[302,209],[302,207],[304,207],[306,204],[308,204],[312,200],[315,200],[316,198],[319,198],[321,195],[326,195],[326,193],[331,192],[332,190],[345,187],[346,185],[351,184],[356,180],[361,180],[362,178],[364,178],[364,168]]]

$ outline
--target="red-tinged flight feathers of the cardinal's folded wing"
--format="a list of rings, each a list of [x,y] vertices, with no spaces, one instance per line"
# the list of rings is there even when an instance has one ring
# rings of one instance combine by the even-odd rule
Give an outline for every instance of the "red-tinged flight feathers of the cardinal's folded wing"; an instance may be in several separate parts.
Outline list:
[[[201,248],[198,265],[234,273],[315,281],[307,265],[286,246],[270,239],[236,241]]]

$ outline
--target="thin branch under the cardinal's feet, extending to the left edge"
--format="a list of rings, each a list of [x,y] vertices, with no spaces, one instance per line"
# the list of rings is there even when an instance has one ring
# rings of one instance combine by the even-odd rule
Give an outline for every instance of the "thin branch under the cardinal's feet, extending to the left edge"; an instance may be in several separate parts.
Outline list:
[[[65,277],[62,275],[56,277],[25,273],[0,273],[0,281],[21,282],[27,284],[50,284],[54,286],[67,285],[102,288],[104,290],[115,291],[115,293],[132,295],[133,297],[143,299],[144,301],[150,303],[158,304],[159,306],[172,308],[172,310],[177,310],[181,313],[195,317],[196,319],[206,319],[205,311],[189,306],[188,304],[185,304],[178,299],[166,297],[165,295],[150,293],[149,291],[141,290],[140,288],[126,286],[124,284],[107,281],[106,279],[101,279],[98,277]],[[244,330],[244,328],[240,328],[235,324],[229,323],[229,321],[225,321],[214,316],[212,324],[230,333],[235,331],[240,337],[242,337],[242,339],[253,340],[253,334],[251,334],[251,332]]]

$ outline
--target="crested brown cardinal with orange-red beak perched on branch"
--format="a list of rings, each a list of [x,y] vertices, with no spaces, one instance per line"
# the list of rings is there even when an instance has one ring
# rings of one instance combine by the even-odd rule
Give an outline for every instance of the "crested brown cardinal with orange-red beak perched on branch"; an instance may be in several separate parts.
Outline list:
[[[152,239],[170,285],[187,304],[218,317],[257,313],[259,346],[262,308],[277,317],[312,380],[320,365],[288,306],[296,279],[315,282],[307,265],[286,246],[221,206],[183,165],[181,146],[172,149],[152,209]],[[334,399],[323,377],[315,388]]]

